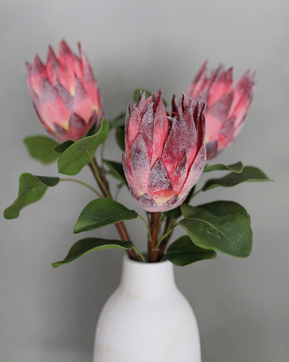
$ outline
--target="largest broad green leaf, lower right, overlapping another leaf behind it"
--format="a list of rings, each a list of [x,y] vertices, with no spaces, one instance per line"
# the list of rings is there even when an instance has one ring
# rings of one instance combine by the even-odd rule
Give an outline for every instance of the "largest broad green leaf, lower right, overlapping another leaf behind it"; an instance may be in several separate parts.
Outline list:
[[[186,206],[184,206],[186,207]],[[181,207],[184,211],[184,208]],[[236,257],[249,256],[252,248],[252,230],[249,220],[241,214],[216,216],[192,207],[193,214],[178,222],[198,247],[219,250]],[[184,211],[187,215],[187,212]]]

